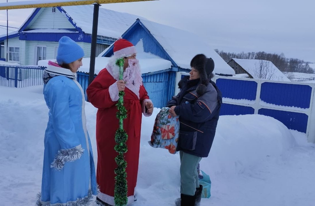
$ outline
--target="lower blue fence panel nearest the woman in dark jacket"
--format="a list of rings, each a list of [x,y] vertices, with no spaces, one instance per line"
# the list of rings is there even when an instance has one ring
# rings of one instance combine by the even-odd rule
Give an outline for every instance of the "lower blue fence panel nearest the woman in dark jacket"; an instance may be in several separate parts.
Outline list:
[[[241,115],[254,114],[255,110],[252,107],[223,103],[220,109],[220,115]]]

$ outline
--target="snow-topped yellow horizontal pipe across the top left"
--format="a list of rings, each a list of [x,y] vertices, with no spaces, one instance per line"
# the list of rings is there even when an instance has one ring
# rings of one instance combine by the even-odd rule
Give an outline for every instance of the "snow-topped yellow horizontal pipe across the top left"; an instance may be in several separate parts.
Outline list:
[[[42,7],[56,7],[56,6],[75,6],[75,5],[86,5],[93,3],[125,3],[125,2],[142,2],[142,1],[155,1],[155,0],[77,0],[63,2],[58,0],[51,0],[53,3],[43,3],[42,0],[27,2],[10,2],[10,3],[0,3],[0,10],[6,9],[18,9],[18,8],[42,8]]]

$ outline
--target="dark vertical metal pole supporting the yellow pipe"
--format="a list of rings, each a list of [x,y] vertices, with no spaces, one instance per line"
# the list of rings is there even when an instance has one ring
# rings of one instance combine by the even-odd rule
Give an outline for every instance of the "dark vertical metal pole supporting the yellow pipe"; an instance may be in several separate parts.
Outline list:
[[[94,79],[97,25],[98,25],[99,9],[100,9],[100,4],[95,3],[94,4],[94,13],[93,13],[92,42],[91,42],[91,56],[90,56],[90,70],[89,70],[89,84],[88,85],[90,85]]]

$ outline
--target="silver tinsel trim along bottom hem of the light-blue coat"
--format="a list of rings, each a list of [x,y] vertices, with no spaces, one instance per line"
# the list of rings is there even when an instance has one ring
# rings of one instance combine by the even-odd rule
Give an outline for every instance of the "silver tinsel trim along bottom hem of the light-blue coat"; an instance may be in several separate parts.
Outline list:
[[[36,206],[89,206],[95,201],[95,195],[93,195],[92,190],[89,190],[88,196],[84,198],[77,198],[76,201],[71,201],[67,203],[55,203],[55,204],[43,204],[41,202],[42,194],[39,192],[37,194]]]

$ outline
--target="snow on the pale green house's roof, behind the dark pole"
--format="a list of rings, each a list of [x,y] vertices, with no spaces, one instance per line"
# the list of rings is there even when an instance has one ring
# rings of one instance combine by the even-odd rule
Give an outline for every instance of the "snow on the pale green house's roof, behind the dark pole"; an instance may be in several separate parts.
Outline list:
[[[92,34],[93,5],[63,6],[62,7],[73,22],[82,31]],[[118,38],[125,32],[139,16],[112,11],[100,7],[97,35]]]

